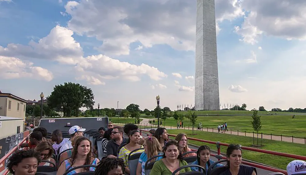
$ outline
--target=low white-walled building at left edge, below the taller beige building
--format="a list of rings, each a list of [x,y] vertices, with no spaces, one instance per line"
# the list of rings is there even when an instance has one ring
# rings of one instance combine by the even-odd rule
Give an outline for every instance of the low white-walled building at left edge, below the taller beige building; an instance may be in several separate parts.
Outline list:
[[[0,116],[0,139],[23,132],[22,118]]]

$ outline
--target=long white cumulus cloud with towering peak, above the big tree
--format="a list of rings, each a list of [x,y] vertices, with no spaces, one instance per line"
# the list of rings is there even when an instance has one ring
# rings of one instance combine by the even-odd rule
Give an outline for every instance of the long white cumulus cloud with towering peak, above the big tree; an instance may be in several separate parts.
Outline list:
[[[128,81],[140,81],[140,76],[147,75],[152,80],[160,80],[167,75],[147,64],[130,64],[110,58],[106,55],[91,55],[83,57],[80,43],[72,37],[73,31],[56,26],[39,42],[31,41],[28,46],[9,44],[6,48],[0,46],[0,55],[24,59],[55,60],[62,64],[76,65],[80,77],[93,85],[105,84],[101,79],[123,78]]]

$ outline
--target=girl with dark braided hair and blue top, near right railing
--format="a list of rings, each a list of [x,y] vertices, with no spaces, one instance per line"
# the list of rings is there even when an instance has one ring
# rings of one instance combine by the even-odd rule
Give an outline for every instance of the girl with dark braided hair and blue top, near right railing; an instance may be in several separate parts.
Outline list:
[[[207,170],[208,167],[211,166],[213,163],[215,163],[214,161],[212,161],[210,159],[210,148],[206,145],[200,146],[200,148],[198,149],[198,151],[196,151],[196,161],[192,162],[192,165],[200,165],[202,166],[205,170],[206,170],[206,174],[207,174]],[[217,167],[221,167],[224,166],[221,163],[216,164],[213,168],[217,168]],[[201,171],[202,169],[199,170],[198,167],[190,167],[192,171]]]

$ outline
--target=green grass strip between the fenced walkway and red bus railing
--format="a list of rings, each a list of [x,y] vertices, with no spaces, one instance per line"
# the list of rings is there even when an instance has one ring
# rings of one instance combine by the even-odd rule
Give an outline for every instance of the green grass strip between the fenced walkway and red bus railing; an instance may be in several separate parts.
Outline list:
[[[235,135],[229,136],[226,134],[209,133],[204,131],[196,131],[197,135],[190,135],[192,132],[191,130],[182,130],[182,129],[173,129],[173,130],[169,129],[167,132],[170,134],[178,134],[184,132],[188,135],[188,137],[199,138],[203,140],[220,141],[222,143],[228,143],[228,144],[241,144],[242,146],[247,146],[247,147],[250,147],[253,144],[252,137],[235,136]],[[211,149],[217,150],[215,144],[207,144],[193,140],[188,140],[188,142],[198,146],[205,144],[208,145]],[[282,142],[276,140],[266,140],[266,139],[263,139],[262,144],[264,146],[261,149],[306,156],[306,151],[305,151],[306,145],[304,144],[296,144],[296,143]],[[226,153],[226,149],[227,147],[221,146],[222,153]],[[286,170],[288,163],[294,160],[291,158],[285,158],[281,156],[259,153],[255,151],[247,151],[247,150],[243,150],[242,157],[244,159],[249,159],[252,161],[264,163],[270,166],[275,166],[284,170]]]

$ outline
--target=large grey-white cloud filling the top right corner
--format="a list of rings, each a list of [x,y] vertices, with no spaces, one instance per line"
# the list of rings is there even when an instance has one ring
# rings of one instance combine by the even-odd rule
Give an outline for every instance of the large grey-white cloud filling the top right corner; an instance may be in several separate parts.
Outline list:
[[[241,27],[235,27],[243,42],[255,44],[262,34],[288,40],[306,39],[305,1],[246,0],[241,7],[250,12]]]

